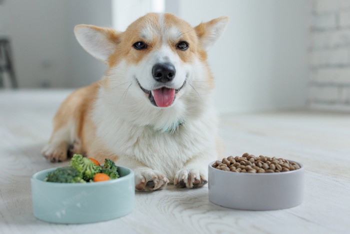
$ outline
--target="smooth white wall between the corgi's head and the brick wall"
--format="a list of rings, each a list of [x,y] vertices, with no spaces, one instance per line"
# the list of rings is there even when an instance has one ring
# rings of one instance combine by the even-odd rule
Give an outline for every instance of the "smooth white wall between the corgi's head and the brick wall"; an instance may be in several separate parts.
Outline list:
[[[179,16],[195,26],[230,21],[208,59],[221,113],[303,108],[307,82],[307,1],[179,1]]]

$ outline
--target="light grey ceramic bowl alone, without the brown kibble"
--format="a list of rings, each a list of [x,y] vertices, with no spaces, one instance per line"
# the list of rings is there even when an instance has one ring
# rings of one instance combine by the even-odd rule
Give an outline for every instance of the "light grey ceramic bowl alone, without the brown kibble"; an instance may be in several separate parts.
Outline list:
[[[224,171],[212,167],[214,162],[208,166],[209,200],[214,204],[235,209],[273,210],[297,206],[303,200],[304,167],[298,162],[297,170],[273,173]]]

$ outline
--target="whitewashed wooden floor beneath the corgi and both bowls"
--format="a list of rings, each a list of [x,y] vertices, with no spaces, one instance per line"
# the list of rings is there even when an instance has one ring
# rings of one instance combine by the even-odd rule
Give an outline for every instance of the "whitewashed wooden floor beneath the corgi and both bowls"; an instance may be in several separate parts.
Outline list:
[[[226,156],[283,157],[306,168],[304,202],[275,211],[234,210],[208,201],[207,186],[136,192],[132,213],[64,225],[32,215],[30,176],[50,163],[40,150],[70,91],[0,92],[0,233],[350,233],[350,115],[271,112],[221,117]]]

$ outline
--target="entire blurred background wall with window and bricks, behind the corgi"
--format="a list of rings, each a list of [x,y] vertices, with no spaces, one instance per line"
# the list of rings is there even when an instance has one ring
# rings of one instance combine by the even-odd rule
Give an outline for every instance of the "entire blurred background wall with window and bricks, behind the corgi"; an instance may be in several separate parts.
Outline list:
[[[78,88],[105,65],[74,38],[77,24],[123,31],[147,12],[192,26],[230,22],[208,52],[220,113],[350,111],[350,1],[346,0],[10,0],[0,2],[19,88]]]

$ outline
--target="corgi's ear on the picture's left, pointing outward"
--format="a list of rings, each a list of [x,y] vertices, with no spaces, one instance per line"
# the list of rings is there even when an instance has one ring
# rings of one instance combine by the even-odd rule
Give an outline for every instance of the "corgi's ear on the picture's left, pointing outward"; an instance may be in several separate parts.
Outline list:
[[[93,25],[77,25],[74,34],[79,44],[96,59],[107,63],[120,38],[120,32]]]

